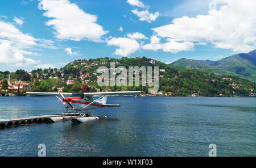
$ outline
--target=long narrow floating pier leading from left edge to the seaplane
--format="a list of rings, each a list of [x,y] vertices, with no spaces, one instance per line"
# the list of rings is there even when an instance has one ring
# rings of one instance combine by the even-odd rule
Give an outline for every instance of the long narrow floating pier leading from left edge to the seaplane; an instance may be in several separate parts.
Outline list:
[[[40,123],[54,123],[58,121],[72,120],[73,117],[77,117],[79,114],[55,114],[55,115],[41,115],[41,116],[28,116],[18,117],[13,119],[0,119],[0,128],[11,127],[27,124],[40,124]]]

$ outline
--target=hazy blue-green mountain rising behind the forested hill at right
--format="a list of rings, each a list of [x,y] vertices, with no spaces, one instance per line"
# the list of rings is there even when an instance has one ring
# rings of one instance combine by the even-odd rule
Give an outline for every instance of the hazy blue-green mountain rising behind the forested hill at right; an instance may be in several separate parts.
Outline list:
[[[256,81],[256,49],[249,53],[240,53],[219,61],[192,60],[181,58],[171,65],[184,68],[200,69],[211,73],[233,75]]]

